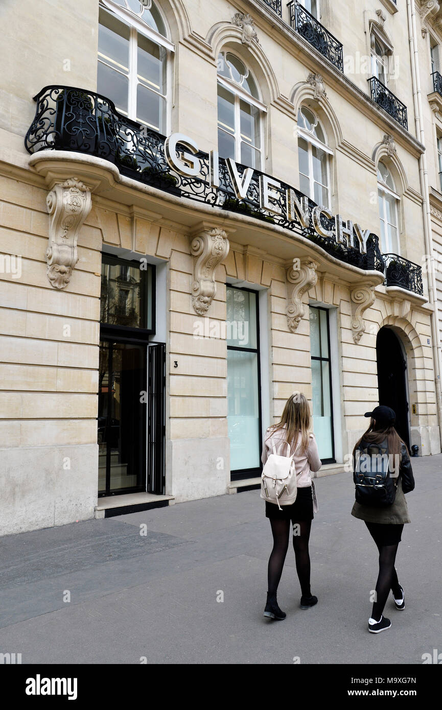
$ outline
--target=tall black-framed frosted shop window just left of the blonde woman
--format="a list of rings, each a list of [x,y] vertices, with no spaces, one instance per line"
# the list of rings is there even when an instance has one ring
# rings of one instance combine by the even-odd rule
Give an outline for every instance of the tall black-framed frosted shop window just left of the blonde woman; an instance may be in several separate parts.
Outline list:
[[[261,368],[258,294],[227,285],[227,422],[230,478],[262,471]]]

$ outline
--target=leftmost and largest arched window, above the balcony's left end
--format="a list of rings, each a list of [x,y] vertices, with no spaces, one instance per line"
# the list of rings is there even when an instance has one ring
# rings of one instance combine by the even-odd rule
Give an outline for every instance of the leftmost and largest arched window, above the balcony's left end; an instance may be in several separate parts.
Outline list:
[[[153,0],[101,0],[97,91],[122,114],[166,133],[167,60],[173,44]]]

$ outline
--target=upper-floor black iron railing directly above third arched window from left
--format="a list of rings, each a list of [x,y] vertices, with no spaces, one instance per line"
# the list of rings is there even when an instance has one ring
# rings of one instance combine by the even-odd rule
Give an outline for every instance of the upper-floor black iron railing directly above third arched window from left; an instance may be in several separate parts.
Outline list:
[[[298,2],[292,0],[287,6],[289,7],[290,24],[293,30],[296,30],[301,37],[313,45],[340,72],[343,72],[343,45],[340,41]]]

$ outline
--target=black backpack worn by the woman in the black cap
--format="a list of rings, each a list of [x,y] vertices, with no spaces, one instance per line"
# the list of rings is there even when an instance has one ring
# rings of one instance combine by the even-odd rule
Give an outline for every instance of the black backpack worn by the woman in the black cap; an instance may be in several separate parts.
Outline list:
[[[389,471],[387,442],[360,442],[353,459],[355,498],[362,506],[392,506],[396,497],[398,478]]]

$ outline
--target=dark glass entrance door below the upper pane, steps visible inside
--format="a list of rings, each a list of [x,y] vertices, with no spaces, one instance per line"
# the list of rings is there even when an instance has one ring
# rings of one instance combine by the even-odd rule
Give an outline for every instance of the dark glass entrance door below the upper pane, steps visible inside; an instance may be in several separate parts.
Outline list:
[[[146,490],[146,345],[99,346],[99,496]]]

